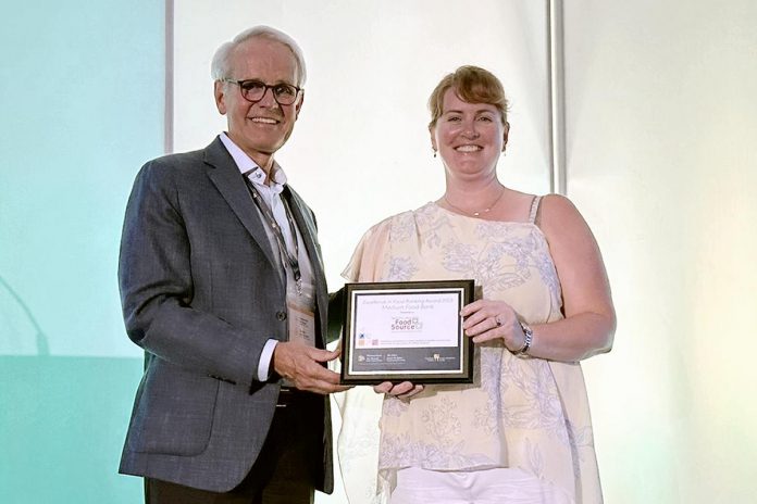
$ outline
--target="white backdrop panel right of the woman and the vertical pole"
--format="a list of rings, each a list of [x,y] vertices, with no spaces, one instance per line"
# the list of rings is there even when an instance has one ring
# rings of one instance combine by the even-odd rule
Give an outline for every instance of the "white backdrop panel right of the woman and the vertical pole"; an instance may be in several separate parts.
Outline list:
[[[584,366],[606,502],[756,502],[757,3],[564,5],[568,196],[618,308]]]

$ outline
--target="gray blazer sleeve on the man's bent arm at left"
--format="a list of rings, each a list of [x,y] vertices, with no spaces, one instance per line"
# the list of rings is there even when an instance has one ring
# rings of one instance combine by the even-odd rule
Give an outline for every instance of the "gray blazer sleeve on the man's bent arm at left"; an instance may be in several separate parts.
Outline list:
[[[195,373],[250,387],[266,338],[195,306],[191,240],[179,171],[156,160],[137,175],[124,219],[119,284],[128,337]]]

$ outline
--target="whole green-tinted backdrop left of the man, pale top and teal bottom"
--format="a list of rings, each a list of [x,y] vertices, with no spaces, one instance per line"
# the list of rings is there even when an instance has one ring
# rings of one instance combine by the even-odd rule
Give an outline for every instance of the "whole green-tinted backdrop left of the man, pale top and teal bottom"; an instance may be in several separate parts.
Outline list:
[[[116,474],[141,355],[116,261],[163,152],[163,2],[13,2],[0,16],[0,502],[134,503]]]

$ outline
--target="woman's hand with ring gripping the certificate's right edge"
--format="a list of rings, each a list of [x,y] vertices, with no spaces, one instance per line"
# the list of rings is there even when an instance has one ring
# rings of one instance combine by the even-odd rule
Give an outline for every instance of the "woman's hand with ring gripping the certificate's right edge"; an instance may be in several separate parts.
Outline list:
[[[501,338],[505,346],[516,352],[525,344],[525,335],[512,307],[502,301],[479,300],[463,306],[462,328],[474,343]]]

